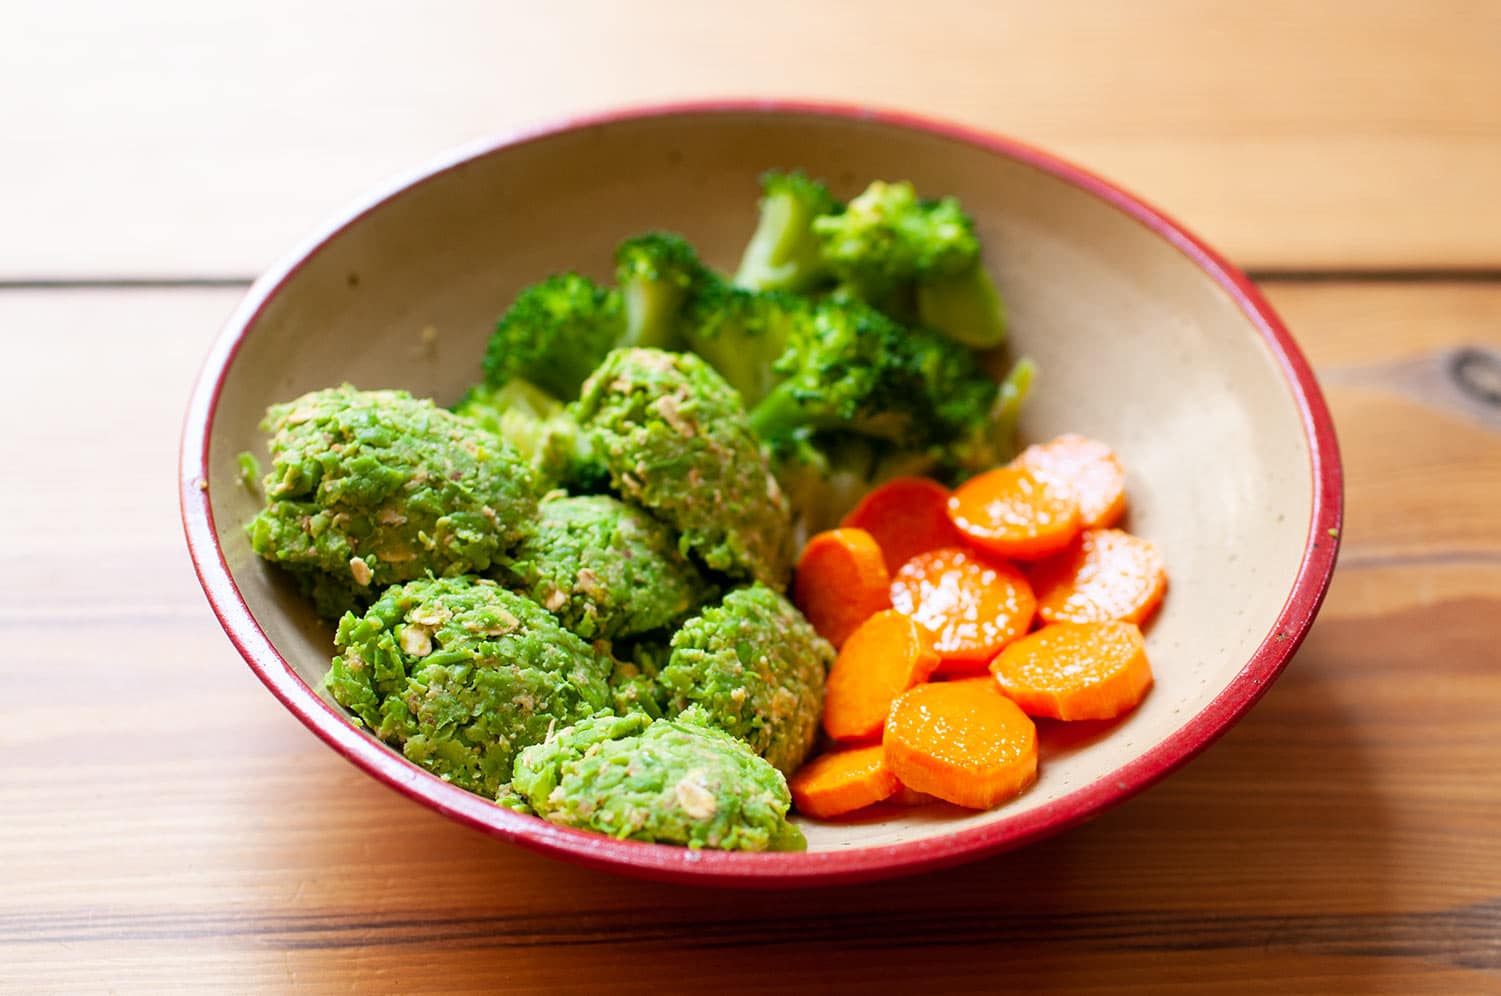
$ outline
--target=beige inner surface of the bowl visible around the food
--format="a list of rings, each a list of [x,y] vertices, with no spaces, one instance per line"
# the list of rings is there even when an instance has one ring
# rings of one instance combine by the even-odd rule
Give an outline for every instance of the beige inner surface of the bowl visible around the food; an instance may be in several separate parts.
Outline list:
[[[1108,728],[1048,724],[1040,780],[989,813],[946,806],[806,824],[811,849],[857,849],[1009,820],[1103,778],[1226,688],[1268,634],[1310,528],[1310,453],[1267,342],[1226,291],[1156,232],[1025,162],[880,120],[746,111],[596,123],[471,159],[347,225],[245,328],[209,428],[225,561],[270,642],[314,688],[332,630],[249,550],[257,500],[236,456],[264,459],[266,406],[353,382],[452,402],[479,376],[495,316],[557,270],[609,273],[612,246],[683,232],[732,267],[757,176],[802,166],[836,194],[911,178],[974,214],[1012,344],[1040,366],[1025,440],[1082,432],[1129,468],[1126,526],[1157,543],[1171,591],[1148,628],[1157,684]]]

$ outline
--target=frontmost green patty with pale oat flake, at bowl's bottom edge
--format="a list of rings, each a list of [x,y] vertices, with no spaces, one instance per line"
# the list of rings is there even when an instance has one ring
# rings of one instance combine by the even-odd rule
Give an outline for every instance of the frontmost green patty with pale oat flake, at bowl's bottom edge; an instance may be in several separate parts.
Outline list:
[[[537,816],[617,838],[717,848],[799,849],[787,780],[744,744],[702,724],[600,716],[528,747],[512,789]]]

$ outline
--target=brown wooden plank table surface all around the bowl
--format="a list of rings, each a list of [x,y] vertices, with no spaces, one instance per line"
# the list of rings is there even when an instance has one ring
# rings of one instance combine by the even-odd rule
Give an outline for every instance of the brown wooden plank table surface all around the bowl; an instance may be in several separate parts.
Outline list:
[[[0,988],[1501,992],[1501,4],[504,6],[8,8]],[[219,632],[176,442],[249,279],[458,141],[720,93],[1055,148],[1282,310],[1339,424],[1343,555],[1181,772],[938,874],[651,885],[380,788]]]

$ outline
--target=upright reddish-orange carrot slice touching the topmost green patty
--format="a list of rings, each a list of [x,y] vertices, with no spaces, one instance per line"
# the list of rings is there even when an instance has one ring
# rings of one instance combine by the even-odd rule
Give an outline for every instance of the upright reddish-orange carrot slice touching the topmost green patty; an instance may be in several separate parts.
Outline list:
[[[793,602],[835,646],[871,615],[892,604],[892,576],[881,548],[865,530],[818,532],[797,561]]]

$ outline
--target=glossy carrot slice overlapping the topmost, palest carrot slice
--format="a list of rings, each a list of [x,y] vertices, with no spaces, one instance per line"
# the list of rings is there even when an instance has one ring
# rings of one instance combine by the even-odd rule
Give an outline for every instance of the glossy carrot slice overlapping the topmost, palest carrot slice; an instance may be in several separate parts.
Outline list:
[[[1079,534],[1073,492],[1019,466],[976,474],[949,498],[949,519],[970,543],[1000,556],[1037,560]]]

